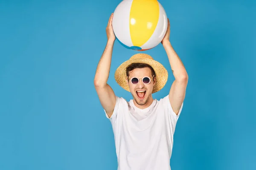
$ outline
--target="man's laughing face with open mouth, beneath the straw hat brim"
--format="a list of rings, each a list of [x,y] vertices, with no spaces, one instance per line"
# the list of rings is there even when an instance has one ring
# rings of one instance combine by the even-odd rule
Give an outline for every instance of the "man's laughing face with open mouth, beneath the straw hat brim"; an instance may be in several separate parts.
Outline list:
[[[133,77],[140,79],[137,85],[132,83]],[[143,77],[149,77],[150,83],[143,83]],[[152,96],[152,91],[155,84],[155,81],[153,82],[152,78],[151,70],[148,67],[135,68],[133,71],[129,72],[128,85],[131,91],[131,95],[138,105],[145,105]]]

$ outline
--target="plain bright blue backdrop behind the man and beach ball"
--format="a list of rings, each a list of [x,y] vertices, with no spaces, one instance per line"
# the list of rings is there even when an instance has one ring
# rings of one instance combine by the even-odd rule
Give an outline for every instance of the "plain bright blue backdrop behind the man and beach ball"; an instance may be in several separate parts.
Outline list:
[[[120,0],[0,2],[0,170],[115,170],[93,78]],[[256,1],[160,0],[189,74],[172,170],[256,169]],[[115,42],[108,83],[137,51]],[[163,63],[160,44],[145,53]]]

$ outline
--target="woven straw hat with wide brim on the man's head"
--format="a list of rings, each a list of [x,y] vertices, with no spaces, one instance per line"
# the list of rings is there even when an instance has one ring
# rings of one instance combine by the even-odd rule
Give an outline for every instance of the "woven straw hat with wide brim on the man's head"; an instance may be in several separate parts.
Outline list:
[[[154,71],[155,71],[155,77],[156,77],[156,83],[153,87],[152,93],[155,93],[157,91],[160,91],[167,82],[168,79],[168,72],[166,68],[160,63],[154,60],[150,55],[148,54],[135,54],[133,55],[129,60],[123,62],[115,72],[115,79],[116,82],[124,88],[126,91],[130,92],[129,86],[126,83],[126,68],[132,64],[132,63],[145,63],[150,65]]]

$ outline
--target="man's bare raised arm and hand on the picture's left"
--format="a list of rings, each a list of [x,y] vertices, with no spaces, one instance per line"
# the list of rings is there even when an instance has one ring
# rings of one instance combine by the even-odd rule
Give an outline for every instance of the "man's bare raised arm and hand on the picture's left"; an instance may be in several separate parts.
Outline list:
[[[111,66],[113,45],[116,39],[112,28],[112,19],[113,14],[111,14],[111,17],[108,20],[108,26],[106,28],[108,42],[102,57],[99,60],[94,77],[94,86],[99,96],[99,100],[109,117],[112,116],[116,104],[116,96],[113,89],[107,84]]]

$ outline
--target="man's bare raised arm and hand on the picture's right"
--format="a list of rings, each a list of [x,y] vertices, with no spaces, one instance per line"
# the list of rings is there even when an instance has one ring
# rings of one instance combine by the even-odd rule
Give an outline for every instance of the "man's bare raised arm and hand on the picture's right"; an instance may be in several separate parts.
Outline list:
[[[165,37],[163,38],[162,44],[166,50],[166,54],[169,58],[169,62],[172,68],[175,81],[172,83],[169,100],[172,106],[173,111],[176,115],[179,113],[180,107],[185,99],[186,87],[188,84],[188,74],[186,69],[181,62],[180,58],[176,54],[175,50],[172,48],[172,45],[169,41],[170,37],[170,22],[168,19],[168,28]]]

